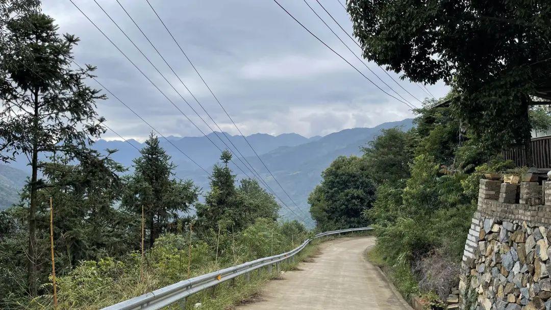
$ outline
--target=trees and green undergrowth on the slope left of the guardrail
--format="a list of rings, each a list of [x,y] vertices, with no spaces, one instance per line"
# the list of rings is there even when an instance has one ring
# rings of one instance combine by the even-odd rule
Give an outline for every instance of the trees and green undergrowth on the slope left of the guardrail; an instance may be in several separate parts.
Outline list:
[[[112,159],[117,150],[93,149],[105,132],[95,111],[105,96],[86,84],[95,68],[73,69],[78,38],[58,34],[37,4],[0,8],[0,160],[25,156],[32,170],[0,212],[0,308],[53,308],[53,262],[58,306],[97,309],[306,238],[255,180],[237,182],[229,151],[204,192],[175,177],[153,134],[133,173]]]

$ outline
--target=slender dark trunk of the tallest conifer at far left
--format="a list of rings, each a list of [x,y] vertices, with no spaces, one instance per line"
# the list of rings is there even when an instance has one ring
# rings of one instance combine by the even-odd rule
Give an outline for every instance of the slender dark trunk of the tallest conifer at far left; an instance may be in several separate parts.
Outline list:
[[[37,283],[36,283],[36,181],[38,176],[38,90],[34,92],[35,106],[34,106],[34,119],[33,119],[33,154],[31,166],[33,168],[33,175],[31,176],[31,202],[29,208],[29,293],[31,296],[37,296]]]

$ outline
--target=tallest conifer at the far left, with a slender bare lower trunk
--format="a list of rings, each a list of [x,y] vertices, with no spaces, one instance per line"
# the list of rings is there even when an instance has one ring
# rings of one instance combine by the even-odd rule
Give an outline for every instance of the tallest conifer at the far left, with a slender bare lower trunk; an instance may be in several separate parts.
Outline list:
[[[5,12],[5,11],[4,11]],[[71,69],[72,49],[79,39],[57,33],[54,20],[41,13],[24,13],[6,24],[0,58],[0,160],[16,155],[29,159],[28,275],[31,295],[36,286],[37,191],[46,186],[39,180],[44,165],[41,156],[63,154],[69,160],[85,153],[91,138],[103,132],[95,101],[105,99],[100,91],[84,84],[95,67]]]

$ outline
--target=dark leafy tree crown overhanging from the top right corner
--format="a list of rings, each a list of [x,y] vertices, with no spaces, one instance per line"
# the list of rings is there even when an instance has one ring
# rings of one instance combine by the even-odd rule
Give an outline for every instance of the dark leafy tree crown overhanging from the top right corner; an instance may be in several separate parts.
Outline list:
[[[452,107],[489,148],[530,142],[531,96],[551,85],[549,1],[350,0],[348,12],[365,58],[451,85]]]

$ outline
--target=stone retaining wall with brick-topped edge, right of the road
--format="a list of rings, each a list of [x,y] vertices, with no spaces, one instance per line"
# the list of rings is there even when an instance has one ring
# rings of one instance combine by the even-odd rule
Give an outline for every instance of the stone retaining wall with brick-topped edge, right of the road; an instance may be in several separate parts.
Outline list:
[[[551,182],[543,188],[480,180],[463,252],[462,309],[551,310]]]

